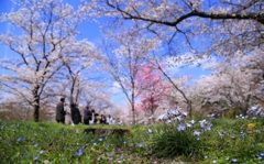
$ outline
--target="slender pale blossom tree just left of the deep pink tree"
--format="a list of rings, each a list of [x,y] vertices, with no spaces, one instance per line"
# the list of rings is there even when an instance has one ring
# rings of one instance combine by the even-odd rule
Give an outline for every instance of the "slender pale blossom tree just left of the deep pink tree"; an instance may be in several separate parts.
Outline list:
[[[106,51],[108,56],[106,70],[112,75],[120,90],[127,97],[132,110],[133,123],[135,123],[138,66],[145,61],[146,54],[157,44],[155,41],[146,40],[144,35],[140,37],[136,31],[132,29],[119,32],[108,31],[108,43],[111,44],[105,45],[105,47],[108,47],[108,51]]]

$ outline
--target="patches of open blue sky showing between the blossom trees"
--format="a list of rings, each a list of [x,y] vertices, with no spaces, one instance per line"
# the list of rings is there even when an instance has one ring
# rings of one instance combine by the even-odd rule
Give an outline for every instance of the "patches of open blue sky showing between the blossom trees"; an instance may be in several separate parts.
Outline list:
[[[69,4],[74,6],[77,8],[79,4],[79,0],[64,0],[64,2],[68,2]],[[10,12],[12,8],[18,8],[13,6],[13,3],[10,0],[0,0],[0,14],[4,12]],[[80,32],[80,35],[78,35],[78,39],[87,39],[89,42],[97,43],[101,39],[101,33],[99,30],[100,22],[98,23],[92,23],[92,22],[87,22],[84,23],[78,28],[78,31]],[[10,24],[6,22],[0,22],[0,34],[7,33],[8,31],[12,32],[12,28]],[[13,56],[14,54],[8,50],[4,45],[0,44],[0,58]],[[179,77],[184,75],[191,75],[193,78],[197,79],[204,74],[209,74],[209,70],[204,70],[201,67],[185,67],[183,69],[175,68],[173,72]],[[3,70],[0,72],[0,74],[4,74]],[[113,97],[112,101],[120,101],[120,96]]]

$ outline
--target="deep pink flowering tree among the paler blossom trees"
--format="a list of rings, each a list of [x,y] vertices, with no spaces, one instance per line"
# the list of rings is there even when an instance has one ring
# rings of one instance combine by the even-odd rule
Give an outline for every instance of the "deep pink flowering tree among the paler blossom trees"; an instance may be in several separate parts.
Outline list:
[[[153,64],[142,64],[138,67],[135,77],[136,97],[141,100],[136,109],[153,116],[166,95],[167,86],[163,83],[162,74]]]

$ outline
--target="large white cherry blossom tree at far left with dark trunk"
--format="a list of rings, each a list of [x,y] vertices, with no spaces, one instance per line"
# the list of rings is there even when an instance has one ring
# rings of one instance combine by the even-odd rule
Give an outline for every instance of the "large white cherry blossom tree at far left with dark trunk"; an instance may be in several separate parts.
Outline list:
[[[19,6],[18,11],[4,13],[1,20],[16,30],[2,34],[0,42],[16,56],[1,61],[1,67],[10,73],[1,76],[1,86],[6,92],[19,96],[32,106],[34,121],[37,122],[45,87],[52,85],[50,81],[63,67],[61,58],[69,53],[70,45],[77,42],[76,28],[86,17],[81,9],[75,11],[61,0],[13,2]]]

